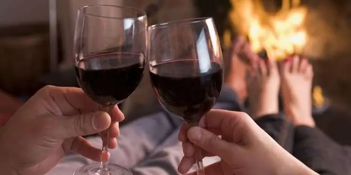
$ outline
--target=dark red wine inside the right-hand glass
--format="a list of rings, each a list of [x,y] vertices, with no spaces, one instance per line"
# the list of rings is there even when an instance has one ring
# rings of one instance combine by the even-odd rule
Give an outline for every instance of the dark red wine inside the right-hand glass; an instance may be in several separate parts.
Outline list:
[[[198,122],[215,105],[223,84],[215,62],[200,68],[197,60],[168,61],[153,66],[150,78],[160,104],[186,122]]]

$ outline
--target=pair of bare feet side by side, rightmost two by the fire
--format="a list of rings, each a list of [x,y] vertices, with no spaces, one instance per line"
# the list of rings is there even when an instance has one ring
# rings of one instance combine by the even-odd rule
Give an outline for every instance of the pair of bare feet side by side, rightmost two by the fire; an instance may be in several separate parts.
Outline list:
[[[249,71],[247,89],[250,112],[254,119],[279,112],[279,89],[285,115],[294,125],[314,127],[312,118],[312,65],[299,56],[288,58],[281,65],[270,60],[257,61]]]

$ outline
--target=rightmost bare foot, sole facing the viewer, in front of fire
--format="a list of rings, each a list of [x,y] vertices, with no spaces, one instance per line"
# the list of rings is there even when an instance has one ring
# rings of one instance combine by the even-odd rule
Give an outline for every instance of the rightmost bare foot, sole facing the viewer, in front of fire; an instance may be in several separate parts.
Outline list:
[[[291,57],[283,63],[281,91],[284,112],[294,125],[314,127],[312,117],[312,65],[307,59]]]

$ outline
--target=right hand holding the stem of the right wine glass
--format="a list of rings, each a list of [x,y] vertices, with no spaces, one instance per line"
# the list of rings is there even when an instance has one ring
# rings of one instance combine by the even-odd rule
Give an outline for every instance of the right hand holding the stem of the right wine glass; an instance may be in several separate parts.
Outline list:
[[[206,175],[317,175],[243,112],[213,109],[199,126],[189,129],[183,124],[179,132],[185,148],[180,173],[188,172],[194,163],[191,143],[195,143],[203,149],[203,156],[221,158],[205,168]]]

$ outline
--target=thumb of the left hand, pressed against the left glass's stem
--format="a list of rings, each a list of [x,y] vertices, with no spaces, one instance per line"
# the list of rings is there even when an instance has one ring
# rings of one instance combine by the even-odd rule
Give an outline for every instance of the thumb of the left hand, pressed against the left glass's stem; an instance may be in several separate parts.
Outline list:
[[[111,124],[111,117],[106,112],[92,112],[76,116],[64,116],[60,120],[63,128],[60,137],[86,136],[106,130]]]

